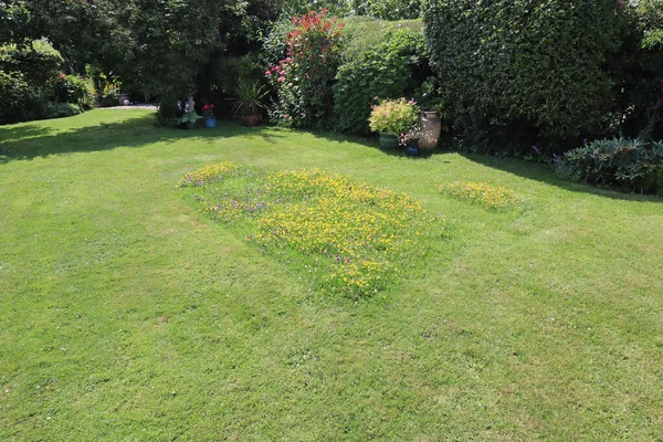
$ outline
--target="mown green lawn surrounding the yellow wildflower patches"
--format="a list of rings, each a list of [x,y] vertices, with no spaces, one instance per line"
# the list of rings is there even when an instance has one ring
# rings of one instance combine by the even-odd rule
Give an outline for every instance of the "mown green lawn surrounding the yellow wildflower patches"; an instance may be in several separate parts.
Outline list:
[[[0,127],[0,440],[663,440],[663,199],[144,110]],[[445,217],[369,299],[192,208],[209,164],[340,172]],[[486,181],[522,212],[451,199]],[[440,229],[431,225],[431,229]]]

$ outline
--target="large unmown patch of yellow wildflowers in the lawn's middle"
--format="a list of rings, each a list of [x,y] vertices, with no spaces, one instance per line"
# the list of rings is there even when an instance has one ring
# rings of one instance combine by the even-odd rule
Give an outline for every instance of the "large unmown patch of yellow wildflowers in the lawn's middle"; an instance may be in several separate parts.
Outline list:
[[[301,264],[322,292],[351,297],[393,283],[444,230],[404,193],[317,169],[223,162],[188,173],[180,187],[193,189],[193,200],[218,221],[245,229],[263,251]]]

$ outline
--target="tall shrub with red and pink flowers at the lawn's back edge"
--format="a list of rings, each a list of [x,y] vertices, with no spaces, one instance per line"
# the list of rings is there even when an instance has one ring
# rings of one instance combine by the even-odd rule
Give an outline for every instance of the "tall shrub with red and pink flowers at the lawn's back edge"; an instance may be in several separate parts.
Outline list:
[[[286,35],[287,56],[269,66],[265,76],[276,90],[270,108],[273,123],[287,127],[319,127],[333,110],[330,81],[339,63],[343,23],[327,10],[294,17]]]

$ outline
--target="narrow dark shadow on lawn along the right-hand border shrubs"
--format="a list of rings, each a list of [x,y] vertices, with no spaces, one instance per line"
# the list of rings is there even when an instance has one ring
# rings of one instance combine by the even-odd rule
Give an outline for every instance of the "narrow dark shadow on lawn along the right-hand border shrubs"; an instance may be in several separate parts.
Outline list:
[[[591,185],[566,181],[555,175],[552,167],[541,162],[524,161],[514,158],[497,158],[487,155],[467,152],[459,152],[459,155],[469,159],[470,161],[477,162],[492,169],[498,169],[518,177],[545,182],[571,192],[590,193],[598,197],[624,201],[663,202],[663,198],[653,194],[641,194],[633,192],[624,193],[609,188],[599,188]]]

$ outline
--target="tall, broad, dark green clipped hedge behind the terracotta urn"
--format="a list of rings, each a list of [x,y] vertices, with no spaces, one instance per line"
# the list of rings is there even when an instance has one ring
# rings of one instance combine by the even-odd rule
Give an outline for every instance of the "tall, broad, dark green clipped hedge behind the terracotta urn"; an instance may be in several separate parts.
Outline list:
[[[533,128],[552,139],[598,130],[613,102],[602,65],[628,8],[606,0],[430,0],[431,59],[469,138]]]

